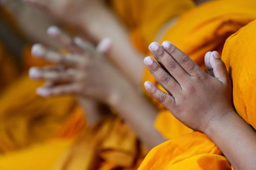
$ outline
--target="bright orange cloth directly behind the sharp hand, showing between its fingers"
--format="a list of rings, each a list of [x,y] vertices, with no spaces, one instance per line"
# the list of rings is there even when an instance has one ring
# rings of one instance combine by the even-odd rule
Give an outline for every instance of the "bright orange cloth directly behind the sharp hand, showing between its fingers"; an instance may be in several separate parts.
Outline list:
[[[166,32],[163,41],[171,41],[204,68],[205,53],[213,50],[221,53],[228,36],[256,18],[255,9],[254,0],[210,1],[185,13],[177,24]],[[147,80],[163,89],[148,69],[145,70],[143,82]],[[155,99],[152,101],[161,110],[155,126],[165,138],[171,139],[191,132],[188,127],[168,114],[169,111],[166,111]]]

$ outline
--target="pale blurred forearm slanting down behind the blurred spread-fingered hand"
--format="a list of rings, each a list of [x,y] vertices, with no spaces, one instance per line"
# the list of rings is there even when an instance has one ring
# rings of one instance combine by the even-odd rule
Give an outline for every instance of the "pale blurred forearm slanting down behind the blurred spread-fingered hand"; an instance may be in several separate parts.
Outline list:
[[[97,20],[79,22],[82,29],[91,34],[96,41],[111,38],[113,48],[109,53],[110,59],[134,85],[141,87],[143,55],[132,45],[129,32],[108,8],[100,8],[93,15]]]

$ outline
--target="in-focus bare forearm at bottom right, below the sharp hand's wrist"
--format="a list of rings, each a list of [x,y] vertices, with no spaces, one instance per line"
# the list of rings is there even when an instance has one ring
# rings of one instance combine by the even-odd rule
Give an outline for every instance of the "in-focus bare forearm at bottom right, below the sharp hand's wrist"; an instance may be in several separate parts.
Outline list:
[[[256,169],[256,132],[237,113],[228,113],[215,121],[205,133],[234,169]]]

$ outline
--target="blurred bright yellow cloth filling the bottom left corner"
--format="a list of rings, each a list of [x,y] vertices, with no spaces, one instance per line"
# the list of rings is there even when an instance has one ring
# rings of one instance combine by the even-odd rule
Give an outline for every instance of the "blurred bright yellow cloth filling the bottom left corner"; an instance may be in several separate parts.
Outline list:
[[[51,139],[44,143],[0,156],[1,170],[51,170],[63,154],[65,148],[72,144],[71,139]]]

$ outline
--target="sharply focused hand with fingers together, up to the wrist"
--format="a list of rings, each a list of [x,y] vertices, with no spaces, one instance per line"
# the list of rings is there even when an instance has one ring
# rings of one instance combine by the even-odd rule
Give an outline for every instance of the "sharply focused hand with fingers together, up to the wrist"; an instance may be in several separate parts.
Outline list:
[[[168,41],[162,45],[152,43],[149,48],[162,67],[152,57],[146,57],[144,62],[168,94],[149,81],[145,82],[145,89],[180,122],[205,132],[209,123],[234,112],[232,86],[218,52],[205,55],[207,74]]]

